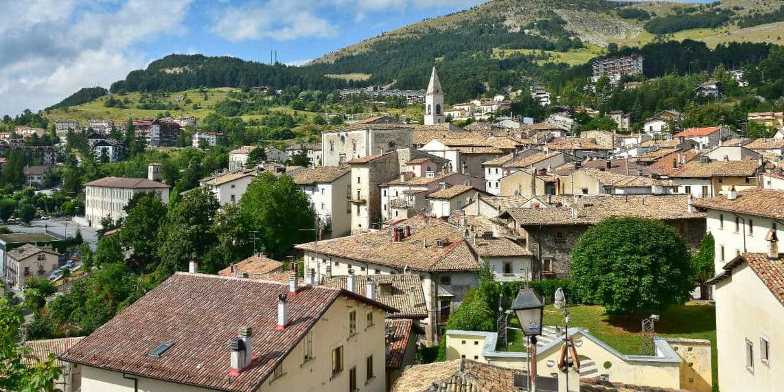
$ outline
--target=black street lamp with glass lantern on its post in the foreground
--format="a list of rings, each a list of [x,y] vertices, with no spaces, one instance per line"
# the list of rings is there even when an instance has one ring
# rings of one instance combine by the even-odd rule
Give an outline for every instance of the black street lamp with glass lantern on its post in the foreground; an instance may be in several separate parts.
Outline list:
[[[528,336],[528,366],[531,392],[536,392],[536,336],[542,334],[544,301],[534,289],[521,289],[512,303],[512,310],[520,321],[523,335]]]

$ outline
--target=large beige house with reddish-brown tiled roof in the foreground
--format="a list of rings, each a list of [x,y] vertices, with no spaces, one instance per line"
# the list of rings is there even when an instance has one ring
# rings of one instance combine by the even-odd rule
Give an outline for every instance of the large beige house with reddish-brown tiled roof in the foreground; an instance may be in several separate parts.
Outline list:
[[[343,289],[178,273],[60,358],[82,392],[383,392],[388,311]]]

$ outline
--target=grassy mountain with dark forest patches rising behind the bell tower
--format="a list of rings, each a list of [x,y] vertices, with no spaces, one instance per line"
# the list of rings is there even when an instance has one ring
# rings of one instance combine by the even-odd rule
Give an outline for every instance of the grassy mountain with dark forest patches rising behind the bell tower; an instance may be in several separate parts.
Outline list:
[[[559,69],[556,63],[584,64],[607,54],[611,44],[641,47],[684,39],[711,48],[735,41],[784,44],[784,34],[776,33],[784,31],[784,12],[777,13],[782,5],[784,0],[495,0],[366,39],[308,67],[331,77],[361,75],[368,83],[414,89],[422,88],[427,69],[438,64],[448,69],[442,74],[459,79],[447,84],[456,85],[462,100],[506,82],[492,78],[546,82]],[[505,74],[510,69],[517,73]]]

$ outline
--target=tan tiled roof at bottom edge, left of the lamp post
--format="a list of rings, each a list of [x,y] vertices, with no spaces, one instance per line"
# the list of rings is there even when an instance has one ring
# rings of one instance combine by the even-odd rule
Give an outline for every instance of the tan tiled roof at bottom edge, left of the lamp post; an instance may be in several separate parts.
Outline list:
[[[405,369],[391,392],[506,392],[517,390],[516,374],[523,371],[468,359],[414,365]]]

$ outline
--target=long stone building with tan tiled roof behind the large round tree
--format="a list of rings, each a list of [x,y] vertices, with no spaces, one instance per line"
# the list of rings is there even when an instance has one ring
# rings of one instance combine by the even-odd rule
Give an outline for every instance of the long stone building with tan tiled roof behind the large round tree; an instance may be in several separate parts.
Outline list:
[[[569,278],[572,248],[593,224],[609,216],[639,216],[675,228],[692,249],[706,232],[706,214],[688,196],[549,196],[534,205],[501,212],[497,223],[506,235],[531,251],[535,279]]]

